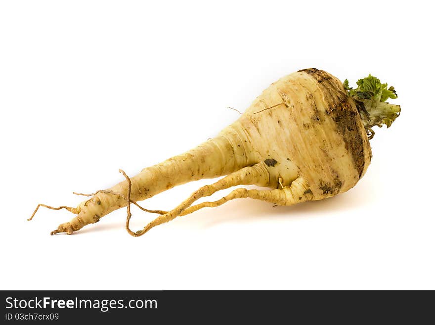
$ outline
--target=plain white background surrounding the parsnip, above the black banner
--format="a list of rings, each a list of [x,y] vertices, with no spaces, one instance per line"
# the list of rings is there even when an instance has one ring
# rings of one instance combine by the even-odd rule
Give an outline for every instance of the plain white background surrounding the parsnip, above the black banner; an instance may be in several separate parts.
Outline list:
[[[406,2],[405,2],[406,3]],[[1,289],[435,289],[432,11],[425,1],[1,1]],[[92,192],[184,152],[308,67],[393,85],[347,193],[235,200],[144,236],[116,211],[50,236]],[[142,205],[170,209],[210,180]],[[227,191],[226,191],[227,192]],[[217,199],[224,192],[214,195]],[[153,215],[132,208],[132,228]]]

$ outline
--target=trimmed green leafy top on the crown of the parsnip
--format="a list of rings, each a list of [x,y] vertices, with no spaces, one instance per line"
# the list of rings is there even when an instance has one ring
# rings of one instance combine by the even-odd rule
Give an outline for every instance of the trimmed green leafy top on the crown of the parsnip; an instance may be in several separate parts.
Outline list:
[[[349,87],[347,79],[343,83],[348,95],[355,100],[367,135],[372,139],[375,134],[372,127],[375,125],[382,127],[385,124],[389,128],[400,115],[399,105],[386,102],[389,98],[397,98],[397,93],[394,87],[388,88],[387,84],[382,84],[378,78],[370,74],[366,78],[359,79],[356,85],[358,86],[356,89]]]

